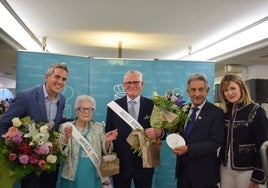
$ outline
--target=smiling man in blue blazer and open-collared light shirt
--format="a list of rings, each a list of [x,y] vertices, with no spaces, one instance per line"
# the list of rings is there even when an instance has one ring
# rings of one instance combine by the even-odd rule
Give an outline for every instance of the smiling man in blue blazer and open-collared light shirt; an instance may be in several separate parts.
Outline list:
[[[0,135],[7,132],[14,117],[30,116],[35,122],[53,122],[53,130],[63,120],[65,97],[60,91],[66,85],[68,69],[65,63],[50,65],[45,75],[45,84],[26,89],[14,98],[7,112],[0,120]],[[37,177],[30,174],[22,179],[21,188],[54,188],[57,172],[43,173]]]

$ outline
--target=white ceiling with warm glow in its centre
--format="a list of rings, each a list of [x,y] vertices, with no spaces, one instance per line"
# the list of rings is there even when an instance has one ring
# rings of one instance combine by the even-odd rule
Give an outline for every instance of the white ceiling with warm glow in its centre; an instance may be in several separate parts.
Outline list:
[[[9,4],[40,42],[47,37],[49,52],[108,58],[118,57],[120,40],[122,58],[169,59],[183,51],[187,55],[189,46],[195,52],[203,43],[209,45],[268,16],[267,0],[1,2]],[[0,43],[0,72],[11,73],[4,77],[14,79],[16,53],[3,45]],[[267,55],[268,38],[224,54],[216,61],[216,72],[223,73],[225,64],[268,64]]]

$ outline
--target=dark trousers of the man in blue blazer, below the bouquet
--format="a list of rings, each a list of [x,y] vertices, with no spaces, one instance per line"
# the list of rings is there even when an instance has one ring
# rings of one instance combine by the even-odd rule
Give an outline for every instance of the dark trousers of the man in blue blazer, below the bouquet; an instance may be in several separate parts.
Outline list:
[[[58,170],[52,173],[44,172],[40,176],[29,174],[21,180],[21,188],[55,188]]]

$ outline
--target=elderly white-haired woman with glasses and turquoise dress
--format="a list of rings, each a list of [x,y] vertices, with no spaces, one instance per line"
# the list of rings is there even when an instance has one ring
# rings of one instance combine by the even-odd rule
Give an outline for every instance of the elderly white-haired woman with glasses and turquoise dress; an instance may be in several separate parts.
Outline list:
[[[105,134],[103,123],[92,119],[96,101],[88,95],[78,96],[75,102],[77,118],[73,122],[60,125],[60,145],[67,156],[63,162],[59,188],[102,187],[101,179],[94,162],[74,137],[74,129],[80,132],[92,146],[98,158],[102,153],[112,150],[112,141],[117,137],[117,130]]]

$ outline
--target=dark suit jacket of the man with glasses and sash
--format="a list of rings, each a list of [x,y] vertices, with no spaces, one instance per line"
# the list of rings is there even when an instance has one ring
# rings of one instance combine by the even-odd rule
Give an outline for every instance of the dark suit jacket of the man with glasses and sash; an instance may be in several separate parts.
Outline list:
[[[127,97],[115,100],[124,110],[128,111],[127,108]],[[142,125],[143,128],[150,127],[150,116],[153,109],[153,101],[145,97],[140,97],[140,111],[138,122]],[[131,177],[131,174],[134,172],[136,174],[144,173],[154,173],[153,168],[142,168],[142,159],[141,157],[133,154],[131,146],[127,143],[126,138],[131,133],[131,127],[122,120],[112,109],[107,109],[106,117],[106,126],[105,131],[118,129],[118,137],[114,143],[114,151],[117,153],[118,158],[120,159],[120,176],[121,177]]]

